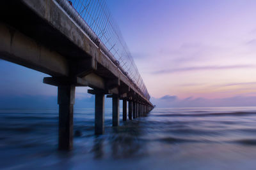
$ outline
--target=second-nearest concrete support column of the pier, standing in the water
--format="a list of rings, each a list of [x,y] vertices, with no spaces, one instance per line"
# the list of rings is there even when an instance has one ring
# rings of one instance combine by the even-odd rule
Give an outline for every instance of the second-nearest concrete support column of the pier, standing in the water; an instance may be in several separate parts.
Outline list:
[[[104,134],[104,102],[103,93],[95,94],[95,134]]]

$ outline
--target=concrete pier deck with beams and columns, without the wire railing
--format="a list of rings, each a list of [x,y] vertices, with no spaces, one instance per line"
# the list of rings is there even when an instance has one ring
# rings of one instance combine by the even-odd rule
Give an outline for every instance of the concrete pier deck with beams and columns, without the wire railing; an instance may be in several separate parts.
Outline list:
[[[59,148],[73,141],[76,87],[95,95],[95,134],[104,133],[104,96],[113,99],[113,126],[147,114],[154,106],[53,0],[3,1],[0,6],[1,59],[51,75],[44,83],[58,86]]]

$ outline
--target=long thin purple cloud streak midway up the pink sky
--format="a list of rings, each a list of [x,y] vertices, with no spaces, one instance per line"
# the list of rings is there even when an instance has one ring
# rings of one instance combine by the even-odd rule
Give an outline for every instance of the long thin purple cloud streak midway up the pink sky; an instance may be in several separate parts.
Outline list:
[[[186,71],[206,71],[206,70],[221,70],[221,69],[241,69],[241,68],[254,68],[254,65],[233,65],[233,66],[202,66],[202,67],[181,67],[174,69],[162,69],[154,71],[152,74],[166,74],[166,73],[179,73]]]

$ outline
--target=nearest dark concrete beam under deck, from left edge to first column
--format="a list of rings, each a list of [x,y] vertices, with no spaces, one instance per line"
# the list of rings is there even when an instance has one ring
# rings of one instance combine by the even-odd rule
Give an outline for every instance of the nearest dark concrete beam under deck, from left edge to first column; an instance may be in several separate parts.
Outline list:
[[[68,76],[69,66],[61,56],[34,39],[0,22],[0,58],[51,76]]]

